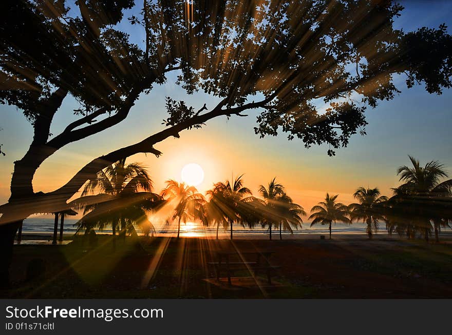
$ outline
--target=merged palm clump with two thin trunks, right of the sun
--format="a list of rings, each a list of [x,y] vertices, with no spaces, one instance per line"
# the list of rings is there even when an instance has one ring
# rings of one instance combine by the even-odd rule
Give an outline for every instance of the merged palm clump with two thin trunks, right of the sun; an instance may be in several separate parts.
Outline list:
[[[306,215],[302,206],[294,204],[290,196],[286,194],[284,186],[276,183],[276,177],[268,184],[266,188],[259,186],[259,192],[265,199],[263,208],[262,225],[268,226],[270,231],[270,240],[272,239],[272,226],[279,227],[279,239],[283,239],[282,229],[292,232],[291,225],[298,227],[303,223],[300,215]]]

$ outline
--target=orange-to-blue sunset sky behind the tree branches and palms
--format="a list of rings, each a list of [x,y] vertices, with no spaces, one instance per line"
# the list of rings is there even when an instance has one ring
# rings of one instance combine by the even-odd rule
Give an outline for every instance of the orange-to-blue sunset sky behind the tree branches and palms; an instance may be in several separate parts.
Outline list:
[[[402,3],[406,9],[396,25],[405,31],[422,26],[438,27],[441,23],[452,25],[452,3]],[[136,38],[139,40],[140,36]],[[196,109],[204,103],[209,108],[215,106],[217,100],[206,94],[186,95],[174,84],[175,77],[176,73],[168,75],[165,85],[156,86],[148,95],[142,94],[121,124],[72,143],[46,160],[35,175],[34,190],[47,192],[58,188],[94,157],[141,141],[162,129],[162,119],[166,118],[165,96],[185,100]],[[214,182],[244,173],[245,185],[257,195],[258,186],[276,176],[293,200],[308,211],[327,191],[340,193],[338,200],[346,204],[353,201],[352,193],[359,186],[376,186],[383,194],[391,195],[390,188],[399,185],[396,169],[408,165],[408,154],[423,164],[438,160],[452,173],[452,90],[445,90],[440,96],[428,94],[420,86],[408,90],[404,77],[398,78],[396,85],[402,90],[399,96],[368,109],[367,135],[354,135],[349,146],[336,150],[334,157],[327,155],[328,147],[308,150],[300,141],[287,141],[284,133],[259,139],[253,131],[258,111],[251,110],[247,118],[232,117],[227,121],[220,117],[202,129],[182,132],[180,139],[156,144],[156,149],[163,152],[158,159],[137,154],[128,162],[143,162],[148,167],[156,192],[160,192],[165,180],[180,180],[185,164],[197,163],[205,173],[198,187],[201,192],[211,188]],[[71,111],[78,107],[76,101],[66,98],[51,132],[58,134],[69,119],[75,120]],[[0,156],[0,202],[4,203],[9,197],[13,162],[26,152],[32,127],[14,107],[2,105],[0,109],[0,128],[3,128],[0,143],[7,154]]]

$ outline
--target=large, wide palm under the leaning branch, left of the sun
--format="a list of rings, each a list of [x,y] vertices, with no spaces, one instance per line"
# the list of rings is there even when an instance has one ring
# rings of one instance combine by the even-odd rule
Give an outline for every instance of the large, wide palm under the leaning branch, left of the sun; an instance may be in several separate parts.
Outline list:
[[[118,228],[125,237],[126,232],[135,233],[134,223],[154,232],[146,211],[155,209],[162,200],[151,191],[152,180],[146,168],[140,163],[126,165],[122,159],[99,171],[96,179],[85,185],[81,197],[69,206],[83,209],[83,218],[76,225],[86,233],[111,226],[113,237]],[[98,194],[88,195],[91,193]]]

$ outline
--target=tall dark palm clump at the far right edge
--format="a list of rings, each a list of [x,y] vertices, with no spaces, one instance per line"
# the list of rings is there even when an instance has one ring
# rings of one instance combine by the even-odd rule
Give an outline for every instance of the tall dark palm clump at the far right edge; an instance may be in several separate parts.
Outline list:
[[[438,228],[444,223],[447,224],[450,218],[452,179],[443,180],[448,177],[448,173],[438,161],[430,161],[421,166],[419,160],[408,157],[412,167],[398,168],[399,181],[404,184],[394,189],[395,195],[391,200],[397,202],[399,207],[404,207],[409,220],[424,231],[426,241],[433,222],[438,242]],[[443,210],[444,208],[447,210]]]

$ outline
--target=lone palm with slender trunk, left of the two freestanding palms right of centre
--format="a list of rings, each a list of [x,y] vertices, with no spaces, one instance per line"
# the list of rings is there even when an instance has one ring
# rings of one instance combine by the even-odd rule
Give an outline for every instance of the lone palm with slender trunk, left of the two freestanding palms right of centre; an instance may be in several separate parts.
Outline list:
[[[348,207],[342,203],[336,202],[339,194],[330,196],[327,193],[325,201],[319,202],[317,205],[311,208],[311,216],[309,220],[312,220],[311,227],[315,224],[329,225],[330,240],[331,240],[331,224],[333,222],[351,223],[347,218]]]

